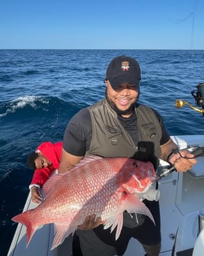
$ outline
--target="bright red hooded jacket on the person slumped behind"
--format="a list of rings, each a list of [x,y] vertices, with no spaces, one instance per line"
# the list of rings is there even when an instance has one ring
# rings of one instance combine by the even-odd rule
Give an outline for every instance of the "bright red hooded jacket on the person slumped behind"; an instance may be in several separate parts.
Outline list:
[[[43,184],[46,183],[46,180],[49,179],[51,173],[53,173],[53,170],[59,168],[59,162],[62,154],[62,142],[43,142],[39,147],[37,147],[37,151],[40,151],[41,154],[53,163],[49,167],[43,167],[42,169],[36,169],[34,171],[31,184],[37,183],[42,187]]]

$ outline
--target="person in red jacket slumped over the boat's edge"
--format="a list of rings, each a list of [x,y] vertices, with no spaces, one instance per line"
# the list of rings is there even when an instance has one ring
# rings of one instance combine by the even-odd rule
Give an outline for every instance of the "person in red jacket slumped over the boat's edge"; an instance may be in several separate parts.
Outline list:
[[[31,199],[34,203],[41,203],[43,195],[40,188],[46,183],[53,170],[59,168],[61,160],[62,142],[45,141],[37,150],[27,157],[27,166],[35,170],[30,183]]]

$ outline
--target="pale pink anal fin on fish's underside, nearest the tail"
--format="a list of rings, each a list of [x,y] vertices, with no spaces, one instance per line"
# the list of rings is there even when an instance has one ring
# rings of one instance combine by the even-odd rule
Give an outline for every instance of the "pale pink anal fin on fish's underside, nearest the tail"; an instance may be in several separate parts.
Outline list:
[[[67,238],[71,233],[74,234],[77,227],[70,227],[66,223],[55,223],[54,224],[54,239],[51,250],[56,248],[58,245],[61,245],[62,242]]]

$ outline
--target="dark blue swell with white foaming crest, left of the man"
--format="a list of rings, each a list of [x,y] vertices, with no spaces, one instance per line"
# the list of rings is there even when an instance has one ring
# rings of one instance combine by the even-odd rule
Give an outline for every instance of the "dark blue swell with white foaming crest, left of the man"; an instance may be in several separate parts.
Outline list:
[[[58,97],[25,96],[3,103],[0,146],[5,158],[8,159],[6,152],[16,156],[17,152],[24,154],[43,141],[62,141],[67,122],[79,109],[80,105]],[[7,164],[2,167],[6,169]]]

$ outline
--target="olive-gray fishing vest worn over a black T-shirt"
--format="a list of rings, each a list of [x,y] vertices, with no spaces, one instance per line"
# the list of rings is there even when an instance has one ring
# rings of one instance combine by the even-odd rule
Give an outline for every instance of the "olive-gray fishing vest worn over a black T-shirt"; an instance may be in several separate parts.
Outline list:
[[[104,99],[88,107],[91,115],[92,138],[86,154],[101,157],[134,157],[138,151],[129,133],[123,128],[116,112]],[[135,107],[141,141],[152,144],[156,157],[161,156],[161,125],[155,113],[145,105]]]

